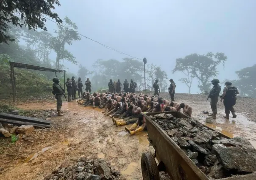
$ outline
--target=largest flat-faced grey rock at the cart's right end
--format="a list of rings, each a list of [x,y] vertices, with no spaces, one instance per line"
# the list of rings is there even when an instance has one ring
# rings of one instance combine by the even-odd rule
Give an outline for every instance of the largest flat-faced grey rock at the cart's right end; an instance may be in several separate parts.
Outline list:
[[[213,145],[213,151],[227,170],[242,173],[256,171],[256,149],[253,146],[225,147],[220,144]]]

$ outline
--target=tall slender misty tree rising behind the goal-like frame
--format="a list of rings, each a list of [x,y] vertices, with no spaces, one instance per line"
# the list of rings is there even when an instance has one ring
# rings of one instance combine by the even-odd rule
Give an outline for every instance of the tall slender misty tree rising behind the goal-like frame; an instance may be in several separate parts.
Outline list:
[[[56,63],[55,68],[59,69],[60,60],[68,60],[73,64],[78,62],[75,60],[75,57],[65,49],[65,45],[72,45],[72,41],[80,41],[81,37],[77,32],[77,25],[73,23],[67,16],[64,18],[65,25],[58,25],[58,30],[55,30],[57,37],[52,39],[52,48],[56,52]]]

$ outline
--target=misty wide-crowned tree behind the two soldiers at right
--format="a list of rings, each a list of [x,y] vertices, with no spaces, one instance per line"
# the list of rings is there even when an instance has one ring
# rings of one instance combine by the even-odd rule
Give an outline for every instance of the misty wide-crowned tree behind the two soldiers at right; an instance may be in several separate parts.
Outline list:
[[[217,52],[215,55],[212,52],[206,55],[191,54],[184,59],[178,58],[174,71],[189,71],[190,77],[196,77],[198,79],[198,87],[202,93],[209,91],[210,78],[217,76],[217,65],[223,63],[223,67],[227,57],[222,52]]]

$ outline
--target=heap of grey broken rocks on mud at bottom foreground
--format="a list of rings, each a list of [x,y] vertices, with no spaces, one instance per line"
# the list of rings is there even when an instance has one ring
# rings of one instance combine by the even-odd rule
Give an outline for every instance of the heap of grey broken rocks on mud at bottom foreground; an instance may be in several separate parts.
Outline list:
[[[123,180],[120,172],[102,159],[80,158],[73,166],[59,167],[45,180]]]

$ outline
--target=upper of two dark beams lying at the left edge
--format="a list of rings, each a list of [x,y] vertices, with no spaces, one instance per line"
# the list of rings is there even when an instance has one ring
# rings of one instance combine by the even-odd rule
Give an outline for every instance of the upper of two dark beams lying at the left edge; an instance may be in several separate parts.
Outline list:
[[[3,113],[3,112],[0,113],[0,118],[19,120],[19,121],[23,121],[23,122],[30,122],[30,123],[37,123],[37,124],[46,124],[46,125],[51,124],[51,122],[47,121],[47,120],[37,119],[37,118],[33,118],[33,117],[19,116],[19,115],[11,115],[11,114]]]

